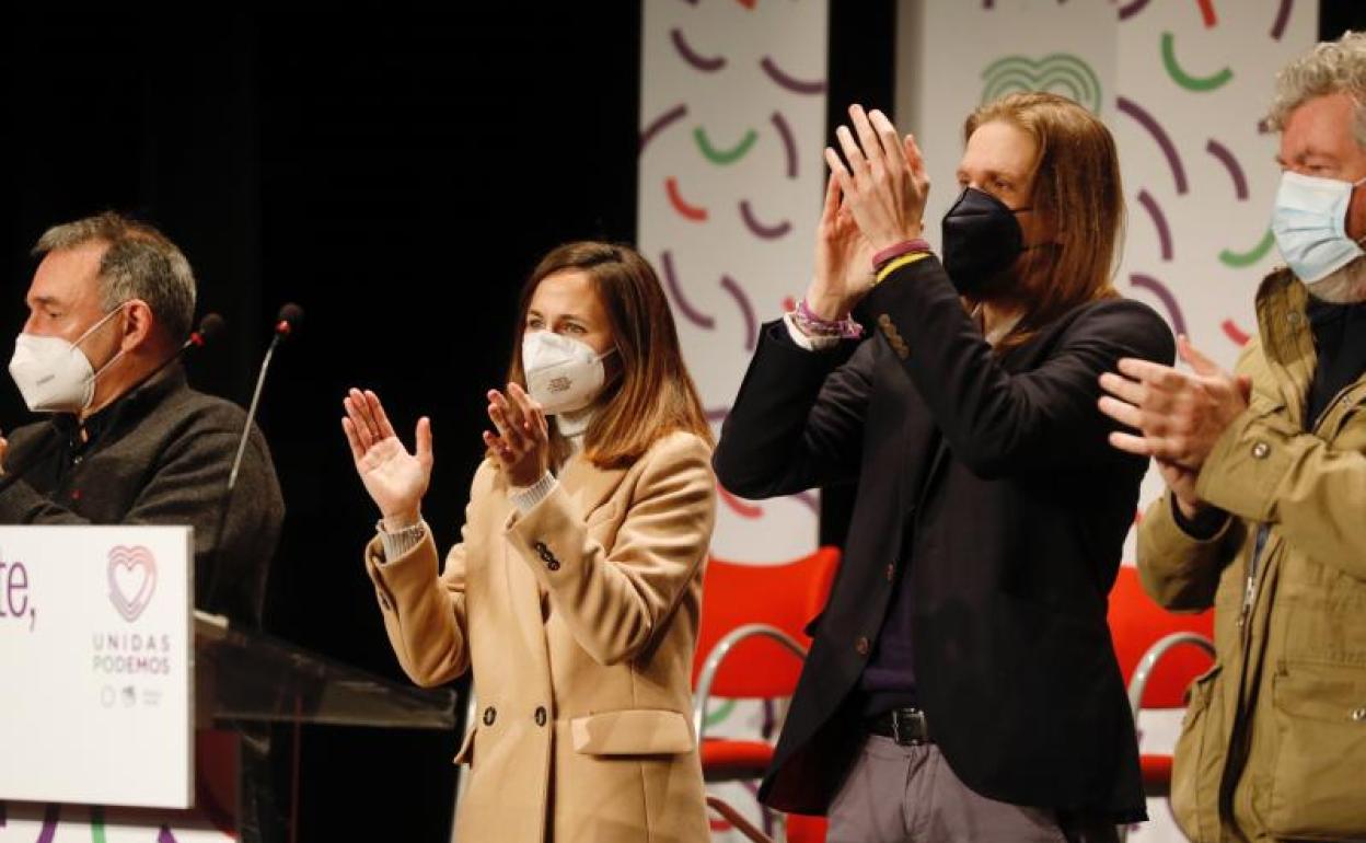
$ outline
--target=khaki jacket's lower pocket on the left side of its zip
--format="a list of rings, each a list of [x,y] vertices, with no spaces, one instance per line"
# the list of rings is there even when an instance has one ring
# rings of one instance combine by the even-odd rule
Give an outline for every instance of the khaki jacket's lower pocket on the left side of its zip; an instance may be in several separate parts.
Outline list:
[[[1186,717],[1172,760],[1172,813],[1191,843],[1218,840],[1218,782],[1224,771],[1227,735],[1216,664],[1186,691]]]

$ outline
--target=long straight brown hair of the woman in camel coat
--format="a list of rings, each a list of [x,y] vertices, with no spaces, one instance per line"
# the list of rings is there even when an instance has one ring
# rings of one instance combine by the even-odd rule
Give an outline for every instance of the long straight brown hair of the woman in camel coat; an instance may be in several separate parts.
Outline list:
[[[535,288],[556,272],[575,269],[593,279],[620,363],[620,376],[604,387],[600,409],[589,424],[585,455],[601,469],[626,466],[673,430],[695,433],[710,444],[712,428],[683,363],[673,314],[660,279],[628,246],[583,240],[556,246],[541,258],[518,302],[508,381],[526,385],[522,335]],[[552,455],[563,460],[568,454],[567,443],[553,429],[550,437]]]

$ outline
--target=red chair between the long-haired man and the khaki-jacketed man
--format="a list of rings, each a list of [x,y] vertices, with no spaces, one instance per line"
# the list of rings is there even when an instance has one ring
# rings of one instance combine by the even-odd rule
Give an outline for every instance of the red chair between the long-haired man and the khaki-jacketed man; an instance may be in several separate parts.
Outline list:
[[[1109,597],[1109,627],[1115,656],[1128,682],[1128,704],[1138,723],[1141,709],[1186,706],[1186,689],[1213,664],[1214,613],[1176,615],[1143,592],[1138,568],[1119,570]],[[1188,645],[1188,646],[1183,646]],[[1172,757],[1139,756],[1143,791],[1167,797],[1172,790]],[[1120,829],[1120,839],[1127,828]]]

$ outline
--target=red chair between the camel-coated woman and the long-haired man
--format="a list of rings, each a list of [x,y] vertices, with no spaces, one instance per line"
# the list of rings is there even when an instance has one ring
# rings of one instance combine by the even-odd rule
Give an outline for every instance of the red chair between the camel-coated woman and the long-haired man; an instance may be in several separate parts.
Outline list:
[[[712,695],[728,700],[787,700],[792,695],[811,644],[805,627],[825,608],[839,563],[839,548],[821,548],[810,556],[772,566],[708,562],[693,663],[693,728],[708,782],[758,779],[773,761],[773,745],[768,741],[708,738],[706,706]],[[728,820],[735,813],[721,799],[710,798],[709,803]],[[735,825],[749,833],[744,827]],[[794,843],[821,840],[824,821],[817,824],[818,836],[807,836],[817,832],[809,831],[810,825],[805,820],[795,821],[788,839]]]

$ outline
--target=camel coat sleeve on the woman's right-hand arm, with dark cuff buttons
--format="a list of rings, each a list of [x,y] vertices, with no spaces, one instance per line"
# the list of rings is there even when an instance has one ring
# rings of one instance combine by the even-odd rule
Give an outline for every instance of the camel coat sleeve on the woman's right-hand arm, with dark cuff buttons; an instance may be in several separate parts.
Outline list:
[[[507,537],[541,582],[579,646],[600,664],[645,650],[688,590],[701,589],[716,519],[710,448],[673,433],[645,456],[611,548],[589,534],[559,485]]]

